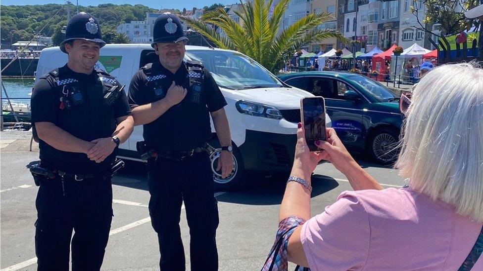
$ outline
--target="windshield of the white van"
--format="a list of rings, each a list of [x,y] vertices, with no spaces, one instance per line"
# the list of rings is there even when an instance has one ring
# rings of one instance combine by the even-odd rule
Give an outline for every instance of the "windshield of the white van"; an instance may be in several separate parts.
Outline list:
[[[203,63],[220,87],[239,90],[284,86],[267,69],[241,53],[187,50],[186,56]]]

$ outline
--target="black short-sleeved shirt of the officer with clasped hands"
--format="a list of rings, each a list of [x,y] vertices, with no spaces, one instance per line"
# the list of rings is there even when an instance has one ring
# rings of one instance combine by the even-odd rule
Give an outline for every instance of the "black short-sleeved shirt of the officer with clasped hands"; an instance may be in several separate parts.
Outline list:
[[[52,122],[57,127],[71,135],[92,141],[98,138],[110,137],[116,130],[116,118],[131,115],[127,96],[123,92],[110,107],[103,103],[103,88],[99,74],[93,71],[90,75],[76,73],[67,65],[59,68],[62,78],[75,78],[78,85],[83,86],[84,104],[66,109],[60,107],[61,89],[56,87],[51,76],[44,76],[35,84],[32,92],[31,111],[32,122]],[[117,149],[104,161],[96,163],[86,154],[63,152],[40,140],[40,159],[48,167],[69,173],[99,173],[110,167]]]

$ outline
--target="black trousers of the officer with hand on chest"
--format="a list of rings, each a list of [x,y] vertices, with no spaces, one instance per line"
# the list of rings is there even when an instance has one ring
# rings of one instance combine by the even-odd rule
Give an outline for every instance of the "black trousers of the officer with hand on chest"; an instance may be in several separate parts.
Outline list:
[[[185,161],[158,157],[149,165],[149,193],[149,214],[158,234],[161,270],[185,270],[179,226],[183,201],[190,227],[191,270],[218,270],[218,204],[208,155],[199,154]]]

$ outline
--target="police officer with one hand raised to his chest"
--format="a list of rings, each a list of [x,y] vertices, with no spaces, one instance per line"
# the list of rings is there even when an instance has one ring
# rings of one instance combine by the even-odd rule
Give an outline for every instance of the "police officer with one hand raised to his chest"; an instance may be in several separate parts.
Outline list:
[[[227,103],[203,65],[183,60],[188,39],[176,15],[159,16],[153,36],[151,46],[159,61],[134,75],[128,98],[135,125],[144,125],[145,144],[157,154],[149,163],[149,213],[158,234],[159,265],[161,270],[185,270],[179,227],[184,201],[191,270],[217,270],[218,207],[204,146],[212,136],[211,115],[223,150],[217,170],[225,178],[233,168],[230,128],[223,109]]]

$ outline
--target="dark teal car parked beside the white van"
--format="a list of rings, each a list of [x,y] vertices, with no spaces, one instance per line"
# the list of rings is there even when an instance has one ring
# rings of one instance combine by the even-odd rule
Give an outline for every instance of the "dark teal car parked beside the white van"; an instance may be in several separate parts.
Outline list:
[[[381,83],[348,72],[280,75],[289,84],[325,98],[327,114],[347,149],[370,153],[379,163],[395,161],[402,115],[399,96]]]

